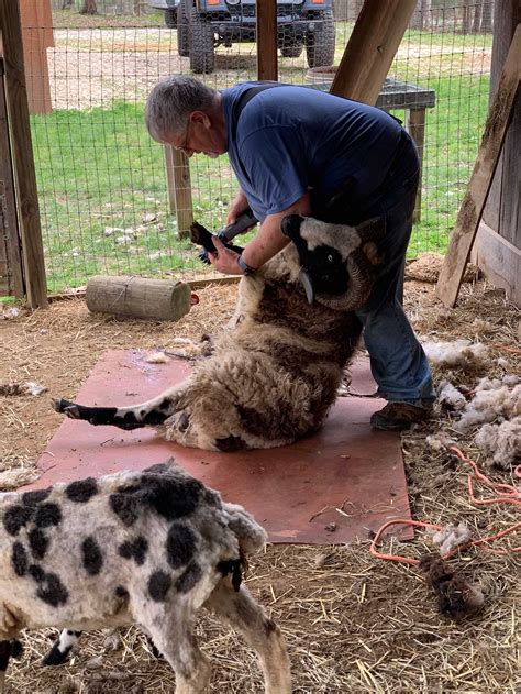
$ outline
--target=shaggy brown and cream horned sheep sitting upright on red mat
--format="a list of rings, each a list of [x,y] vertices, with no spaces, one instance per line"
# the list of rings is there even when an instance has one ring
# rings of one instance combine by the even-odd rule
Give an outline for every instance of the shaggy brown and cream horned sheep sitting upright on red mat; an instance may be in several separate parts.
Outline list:
[[[58,399],[55,409],[91,425],[155,426],[167,440],[219,451],[285,445],[317,431],[362,333],[354,310],[369,296],[384,229],[381,220],[352,228],[286,217],[293,243],[241,279],[240,320],[182,383],[131,407]]]

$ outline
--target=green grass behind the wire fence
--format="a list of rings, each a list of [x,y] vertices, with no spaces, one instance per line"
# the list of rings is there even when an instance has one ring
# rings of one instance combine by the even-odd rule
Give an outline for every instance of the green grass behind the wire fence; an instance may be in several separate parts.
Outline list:
[[[411,255],[445,250],[488,102],[488,76],[421,84],[435,90],[436,106],[426,112],[422,212]],[[169,214],[163,148],[146,133],[143,104],[33,115],[32,136],[49,291],[80,286],[93,274],[201,272]],[[219,228],[235,189],[226,157],[195,157],[190,174],[196,219]]]

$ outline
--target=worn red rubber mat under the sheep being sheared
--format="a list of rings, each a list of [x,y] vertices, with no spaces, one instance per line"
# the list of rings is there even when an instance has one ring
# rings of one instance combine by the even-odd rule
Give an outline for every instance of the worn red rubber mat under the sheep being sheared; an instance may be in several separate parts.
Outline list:
[[[131,405],[159,394],[189,372],[187,362],[148,364],[144,354],[102,355],[79,393],[84,405]],[[351,389],[375,389],[368,361],[352,368]],[[122,431],[64,418],[42,454],[43,487],[117,470],[142,470],[174,456],[225,500],[242,504],[266,528],[271,542],[331,544],[367,539],[391,518],[410,518],[397,433],[374,431],[369,416],[383,400],[340,397],[322,430],[292,445],[265,451],[213,453],[163,441],[152,429]],[[397,527],[400,539],[410,528]]]

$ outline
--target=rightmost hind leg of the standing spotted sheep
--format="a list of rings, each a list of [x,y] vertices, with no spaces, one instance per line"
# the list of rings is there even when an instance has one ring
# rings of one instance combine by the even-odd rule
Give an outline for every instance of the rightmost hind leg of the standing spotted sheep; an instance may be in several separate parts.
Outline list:
[[[278,626],[268,619],[264,609],[244,586],[236,592],[221,581],[204,603],[232,627],[241,631],[257,652],[264,673],[266,694],[289,694],[291,675],[286,646]]]

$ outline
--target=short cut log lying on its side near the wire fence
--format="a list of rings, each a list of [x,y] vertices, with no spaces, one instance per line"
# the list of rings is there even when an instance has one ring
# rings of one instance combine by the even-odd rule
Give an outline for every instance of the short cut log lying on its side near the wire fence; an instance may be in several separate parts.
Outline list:
[[[179,320],[191,305],[185,282],[129,276],[91,277],[85,298],[92,312],[152,320]]]

